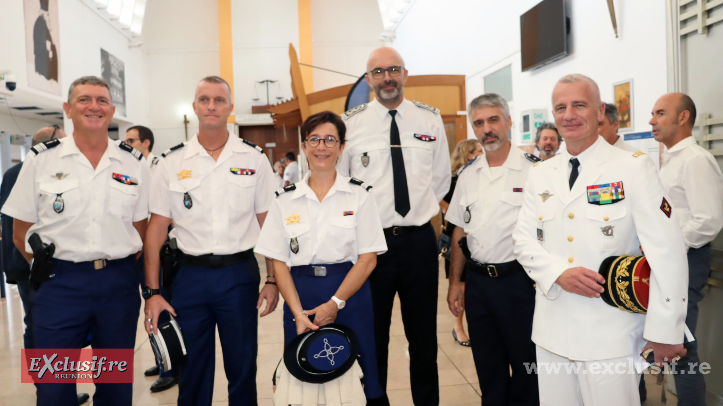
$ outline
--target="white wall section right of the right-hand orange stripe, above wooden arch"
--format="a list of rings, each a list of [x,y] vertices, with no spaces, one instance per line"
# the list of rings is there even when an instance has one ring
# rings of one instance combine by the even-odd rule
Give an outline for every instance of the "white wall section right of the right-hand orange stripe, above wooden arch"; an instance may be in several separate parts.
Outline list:
[[[383,45],[377,0],[312,1],[314,66],[354,74],[367,69],[369,53]],[[354,77],[314,69],[314,90],[354,83]]]

